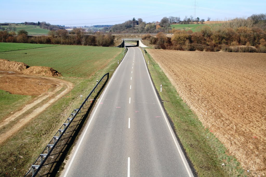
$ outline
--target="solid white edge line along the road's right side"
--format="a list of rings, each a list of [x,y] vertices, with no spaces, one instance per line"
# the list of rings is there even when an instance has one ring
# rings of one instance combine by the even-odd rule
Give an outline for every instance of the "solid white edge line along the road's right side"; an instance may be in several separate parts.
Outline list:
[[[138,48],[138,49],[139,49],[139,48]],[[139,50],[141,50],[141,49],[139,49]],[[142,51],[141,51],[141,53],[142,53]],[[142,57],[143,57],[143,55],[142,55]],[[181,153],[181,151],[180,151],[180,148],[179,148],[178,145],[177,145],[176,137],[174,136],[174,134],[173,134],[173,132],[172,132],[172,129],[171,129],[170,125],[169,125],[169,122],[168,122],[168,120],[167,120],[167,118],[166,118],[166,114],[165,114],[165,112],[164,112],[164,110],[163,110],[163,107],[162,107],[162,105],[161,105],[161,103],[160,103],[160,100],[159,100],[159,98],[158,98],[158,96],[157,96],[157,93],[156,93],[155,88],[154,88],[154,85],[153,85],[153,83],[152,83],[152,81],[151,81],[151,76],[149,75],[148,67],[147,67],[147,64],[146,64],[146,61],[145,61],[145,58],[144,58],[144,57],[143,57],[143,60],[144,60],[145,66],[146,66],[146,70],[147,70],[147,73],[148,73],[149,80],[150,80],[150,82],[151,82],[151,85],[152,85],[153,91],[154,91],[154,93],[155,93],[155,95],[156,95],[157,101],[158,101],[159,106],[160,106],[160,108],[161,108],[161,111],[162,111],[162,113],[163,113],[163,115],[164,115],[164,119],[165,119],[165,121],[166,121],[166,123],[167,123],[167,126],[168,126],[168,128],[169,128],[169,131],[171,132],[171,135],[172,135],[172,138],[173,138],[173,140],[174,140],[174,143],[176,144],[176,148],[177,148],[177,150],[178,150],[178,152],[179,152],[179,154],[180,154],[180,156],[181,156],[181,159],[182,159],[182,161],[183,161],[183,163],[184,163],[184,165],[185,165],[186,171],[188,172],[188,175],[189,175],[190,177],[192,177],[191,174],[190,174],[190,172],[189,172],[188,166],[186,165],[186,162],[185,162],[185,160],[184,160],[184,158],[183,158],[183,156],[182,156],[182,153]]]

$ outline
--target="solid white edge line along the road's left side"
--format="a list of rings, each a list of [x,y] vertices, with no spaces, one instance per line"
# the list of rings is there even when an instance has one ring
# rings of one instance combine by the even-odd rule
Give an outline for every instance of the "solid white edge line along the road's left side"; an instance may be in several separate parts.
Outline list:
[[[127,54],[128,54],[128,53],[126,53],[126,55],[127,55]],[[126,55],[125,55],[125,57],[126,57]],[[108,87],[109,87],[111,81],[113,80],[113,78],[114,78],[114,76],[115,76],[115,74],[116,74],[116,72],[117,72],[117,70],[118,70],[118,68],[119,68],[120,66],[121,66],[121,64],[119,64],[119,66],[118,66],[117,69],[115,70],[114,74],[112,75],[112,77],[111,77],[111,79],[110,79],[110,81],[109,81],[109,83],[108,83],[106,89],[104,90],[103,94],[101,95],[101,99],[100,99],[99,101],[97,101],[97,102],[98,102],[98,105],[96,106],[96,108],[95,108],[95,110],[94,110],[94,112],[93,112],[93,115],[92,115],[92,117],[90,118],[90,121],[89,121],[89,123],[88,123],[88,126],[86,127],[85,132],[83,133],[83,135],[82,135],[82,137],[81,137],[80,143],[78,143],[77,149],[75,150],[75,153],[74,153],[74,155],[73,155],[73,157],[72,157],[72,159],[71,159],[71,161],[70,161],[70,163],[69,163],[69,165],[68,165],[68,168],[66,169],[66,172],[65,172],[65,174],[64,174],[64,177],[66,177],[66,175],[68,174],[68,171],[69,171],[69,169],[70,169],[70,167],[71,167],[71,165],[72,165],[72,163],[73,163],[73,160],[74,160],[74,158],[75,158],[75,156],[76,156],[76,154],[77,154],[77,152],[78,152],[78,149],[80,148],[80,145],[81,145],[81,143],[82,143],[82,140],[84,139],[85,134],[86,134],[86,132],[88,131],[88,128],[89,128],[89,126],[90,126],[90,123],[92,122],[92,119],[93,119],[93,117],[94,117],[94,115],[95,115],[95,113],[96,113],[96,111],[97,111],[97,109],[98,109],[98,107],[99,107],[99,105],[100,105],[100,103],[101,103],[101,101],[102,101],[102,98],[103,98],[103,96],[104,96],[106,90],[108,89]]]

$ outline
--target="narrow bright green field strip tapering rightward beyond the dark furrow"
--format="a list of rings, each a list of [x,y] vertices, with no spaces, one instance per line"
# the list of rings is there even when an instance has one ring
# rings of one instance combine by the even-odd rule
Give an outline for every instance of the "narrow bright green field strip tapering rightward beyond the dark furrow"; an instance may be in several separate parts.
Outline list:
[[[23,43],[1,42],[0,43],[0,52],[14,51],[14,50],[24,50],[24,49],[34,49],[34,48],[41,48],[41,47],[54,47],[54,46],[58,46],[58,45],[52,45],[52,44],[23,44]]]

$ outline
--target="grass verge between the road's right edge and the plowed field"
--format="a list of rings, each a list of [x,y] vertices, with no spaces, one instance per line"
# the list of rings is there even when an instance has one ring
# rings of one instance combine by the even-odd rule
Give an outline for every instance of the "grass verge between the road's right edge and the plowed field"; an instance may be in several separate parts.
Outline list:
[[[147,64],[149,61],[148,69],[152,81],[161,100],[164,101],[163,106],[172,120],[172,127],[198,176],[245,176],[240,163],[234,157],[228,156],[223,144],[203,127],[200,120],[182,101],[167,76],[148,53],[145,54],[145,60]],[[163,85],[162,92],[159,92],[160,84]],[[225,163],[226,166],[222,166],[222,163]]]

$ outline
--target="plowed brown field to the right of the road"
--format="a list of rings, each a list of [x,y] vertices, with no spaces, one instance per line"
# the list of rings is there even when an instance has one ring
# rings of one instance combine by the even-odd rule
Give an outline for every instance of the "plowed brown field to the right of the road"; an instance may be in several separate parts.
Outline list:
[[[243,168],[265,174],[266,54],[147,51]]]

